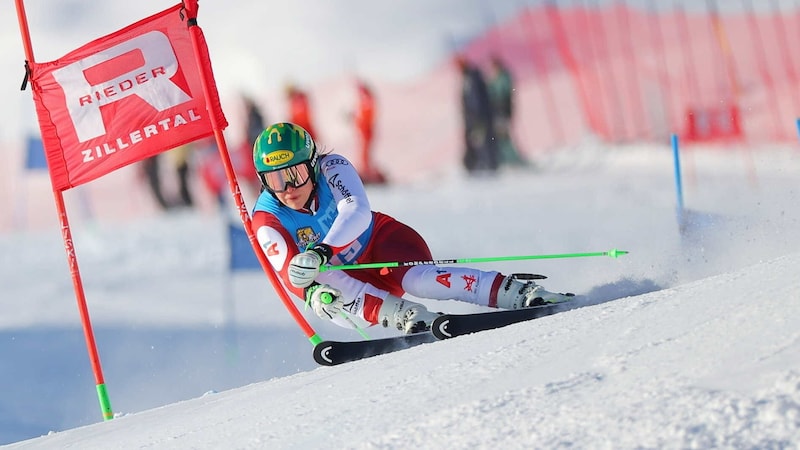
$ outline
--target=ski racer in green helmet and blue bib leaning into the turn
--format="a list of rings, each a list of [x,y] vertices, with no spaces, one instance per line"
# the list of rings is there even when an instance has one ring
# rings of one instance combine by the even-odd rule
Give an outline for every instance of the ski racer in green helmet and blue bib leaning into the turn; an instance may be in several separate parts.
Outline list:
[[[403,333],[430,329],[437,313],[403,298],[460,300],[518,309],[565,301],[533,281],[495,271],[415,265],[389,269],[329,270],[386,261],[429,261],[431,251],[414,229],[371,209],[353,165],[320,153],[313,137],[293,123],[267,127],[253,145],[262,191],[252,227],[287,290],[314,312],[352,328],[381,324]]]

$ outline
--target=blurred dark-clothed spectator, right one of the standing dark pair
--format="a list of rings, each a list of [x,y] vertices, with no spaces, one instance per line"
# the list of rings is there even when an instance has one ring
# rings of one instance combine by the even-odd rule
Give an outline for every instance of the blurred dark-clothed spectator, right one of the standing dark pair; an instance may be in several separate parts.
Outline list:
[[[494,56],[490,63],[489,95],[494,114],[494,133],[497,139],[498,163],[519,166],[526,161],[520,156],[511,136],[514,115],[514,80],[503,61]]]

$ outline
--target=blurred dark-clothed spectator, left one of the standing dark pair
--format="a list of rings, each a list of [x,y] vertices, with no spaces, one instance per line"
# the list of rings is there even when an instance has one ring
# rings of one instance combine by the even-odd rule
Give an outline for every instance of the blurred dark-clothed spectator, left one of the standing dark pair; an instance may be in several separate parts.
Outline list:
[[[456,57],[461,71],[461,112],[464,125],[464,167],[470,173],[497,170],[497,147],[489,90],[481,71],[463,55]]]

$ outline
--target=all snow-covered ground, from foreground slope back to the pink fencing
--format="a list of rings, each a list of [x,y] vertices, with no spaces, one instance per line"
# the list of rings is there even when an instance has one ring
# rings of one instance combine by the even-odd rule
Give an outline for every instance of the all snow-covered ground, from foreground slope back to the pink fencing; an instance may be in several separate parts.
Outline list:
[[[336,367],[315,365],[262,274],[228,270],[224,212],[77,226],[117,416],[106,422],[60,234],[4,233],[0,443],[796,448],[800,154],[693,148],[681,165],[683,233],[666,145],[586,144],[495,177],[454,171],[435,189],[370,187],[372,207],[418,229],[437,259],[630,253],[483,263],[546,274],[545,287],[578,298],[534,322]],[[359,338],[306,317],[325,339]]]

